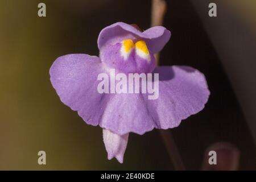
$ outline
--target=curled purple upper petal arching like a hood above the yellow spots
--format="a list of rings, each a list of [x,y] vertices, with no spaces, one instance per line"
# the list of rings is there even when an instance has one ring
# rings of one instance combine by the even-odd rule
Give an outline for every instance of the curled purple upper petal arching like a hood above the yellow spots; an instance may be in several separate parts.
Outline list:
[[[98,36],[100,51],[108,44],[122,42],[124,39],[143,39],[152,53],[159,52],[171,37],[171,32],[162,26],[148,28],[141,32],[137,28],[123,22],[114,23],[101,30]]]

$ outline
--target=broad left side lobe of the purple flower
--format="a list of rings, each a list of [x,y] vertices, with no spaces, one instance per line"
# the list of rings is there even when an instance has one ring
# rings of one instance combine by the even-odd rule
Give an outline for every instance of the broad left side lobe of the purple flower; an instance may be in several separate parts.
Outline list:
[[[97,92],[97,75],[102,72],[100,59],[85,54],[58,57],[49,71],[60,100],[94,126],[98,125],[103,112],[100,108],[107,98]]]

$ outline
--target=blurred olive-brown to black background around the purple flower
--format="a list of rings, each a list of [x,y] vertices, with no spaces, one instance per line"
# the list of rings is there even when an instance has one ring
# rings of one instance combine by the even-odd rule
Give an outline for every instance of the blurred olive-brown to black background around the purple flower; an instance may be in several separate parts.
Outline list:
[[[38,17],[44,2],[47,16]],[[211,92],[199,114],[172,129],[187,169],[200,169],[210,144],[240,150],[238,169],[256,169],[256,2],[167,1],[172,37],[161,65],[205,73]],[[98,55],[97,36],[115,22],[150,27],[151,1],[0,1],[0,169],[174,169],[157,130],[131,134],[125,162],[108,160],[102,130],[62,104],[49,81],[68,53]],[[38,151],[47,165],[38,165]]]

